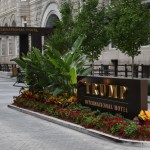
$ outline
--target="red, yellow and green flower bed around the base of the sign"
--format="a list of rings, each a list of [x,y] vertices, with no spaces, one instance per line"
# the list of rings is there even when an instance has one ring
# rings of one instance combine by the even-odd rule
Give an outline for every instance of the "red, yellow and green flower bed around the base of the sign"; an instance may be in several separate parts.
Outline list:
[[[120,114],[93,111],[78,103],[76,97],[42,98],[41,94],[25,91],[14,97],[14,105],[44,113],[126,139],[150,141],[150,121],[129,120]]]

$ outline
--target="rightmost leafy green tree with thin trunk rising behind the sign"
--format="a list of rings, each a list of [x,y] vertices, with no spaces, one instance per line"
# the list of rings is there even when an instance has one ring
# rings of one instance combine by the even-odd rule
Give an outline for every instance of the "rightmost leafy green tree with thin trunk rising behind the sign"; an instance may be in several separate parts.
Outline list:
[[[108,32],[117,49],[134,58],[142,45],[149,43],[150,11],[142,0],[113,0],[107,7]]]

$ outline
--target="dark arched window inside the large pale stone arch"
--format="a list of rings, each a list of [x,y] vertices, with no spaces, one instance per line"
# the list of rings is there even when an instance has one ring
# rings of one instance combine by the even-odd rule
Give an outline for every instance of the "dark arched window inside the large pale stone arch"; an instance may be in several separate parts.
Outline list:
[[[55,28],[55,22],[59,20],[57,15],[51,14],[46,22],[46,27]]]

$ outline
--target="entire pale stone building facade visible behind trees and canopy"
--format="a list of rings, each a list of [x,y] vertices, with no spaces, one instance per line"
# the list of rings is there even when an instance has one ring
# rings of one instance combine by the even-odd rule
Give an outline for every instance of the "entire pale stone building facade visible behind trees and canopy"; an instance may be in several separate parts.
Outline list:
[[[78,2],[72,0],[74,10]],[[61,19],[60,6],[63,0],[0,0],[0,26],[5,27],[52,27],[53,18]],[[100,0],[100,3],[110,0]],[[148,0],[150,2],[150,0]],[[18,36],[0,35],[0,64],[12,63],[10,60],[19,56]],[[135,57],[136,64],[150,65],[150,45],[142,46],[141,55]],[[131,58],[109,44],[102,52],[99,64],[131,64]]]

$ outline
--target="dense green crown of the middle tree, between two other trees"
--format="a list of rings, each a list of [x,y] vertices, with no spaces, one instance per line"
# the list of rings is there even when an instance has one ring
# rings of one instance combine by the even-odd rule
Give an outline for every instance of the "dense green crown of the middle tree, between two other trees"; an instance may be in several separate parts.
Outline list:
[[[105,9],[99,6],[99,0],[87,0],[76,16],[74,34],[86,35],[82,50],[92,61],[109,43],[105,25]]]

